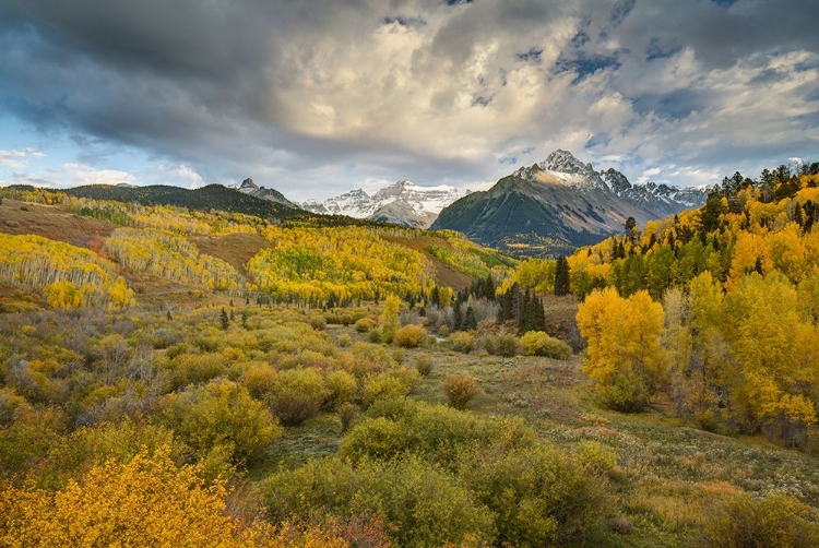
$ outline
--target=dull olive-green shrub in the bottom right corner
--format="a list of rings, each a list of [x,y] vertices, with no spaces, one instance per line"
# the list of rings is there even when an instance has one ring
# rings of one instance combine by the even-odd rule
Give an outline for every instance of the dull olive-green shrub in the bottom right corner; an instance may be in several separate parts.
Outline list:
[[[773,493],[761,500],[739,495],[710,513],[703,546],[819,546],[819,524],[809,507],[786,495]]]

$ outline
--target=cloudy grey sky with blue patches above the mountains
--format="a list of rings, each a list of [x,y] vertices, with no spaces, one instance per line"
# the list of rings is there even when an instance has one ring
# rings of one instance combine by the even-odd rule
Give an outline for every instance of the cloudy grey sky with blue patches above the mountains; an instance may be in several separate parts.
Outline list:
[[[0,184],[488,188],[819,160],[815,0],[3,0]]]

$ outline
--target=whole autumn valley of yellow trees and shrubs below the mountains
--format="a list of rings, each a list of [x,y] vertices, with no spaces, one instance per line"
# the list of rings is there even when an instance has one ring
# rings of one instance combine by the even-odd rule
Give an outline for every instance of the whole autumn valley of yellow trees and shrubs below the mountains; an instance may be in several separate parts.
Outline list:
[[[562,262],[4,189],[0,539],[164,475],[144,541],[810,546],[819,176],[765,177]]]

